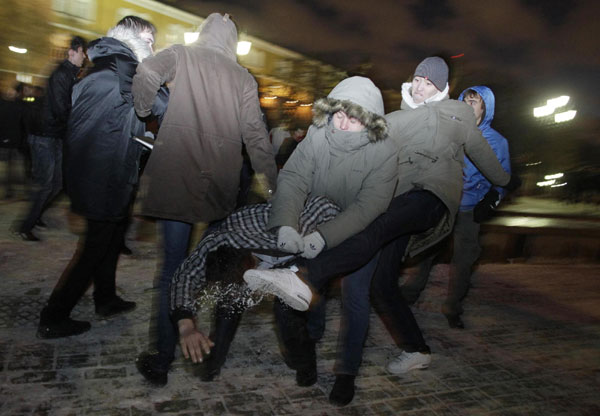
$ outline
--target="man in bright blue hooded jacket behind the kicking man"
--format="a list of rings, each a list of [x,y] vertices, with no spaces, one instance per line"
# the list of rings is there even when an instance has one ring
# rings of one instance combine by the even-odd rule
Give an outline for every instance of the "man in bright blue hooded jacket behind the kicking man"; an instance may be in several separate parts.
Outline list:
[[[485,86],[467,88],[458,99],[473,107],[481,134],[490,144],[504,170],[510,173],[508,142],[491,127],[496,102],[492,90]],[[466,156],[463,177],[462,198],[453,230],[453,267],[448,282],[448,294],[442,306],[442,312],[448,319],[450,327],[460,329],[464,328],[460,317],[463,313],[462,300],[471,284],[473,264],[481,253],[480,223],[493,215],[500,200],[506,194],[503,188],[492,186]],[[436,255],[437,252],[426,258],[420,264],[418,274],[402,286],[402,295],[407,302],[414,303],[419,297],[427,284]]]

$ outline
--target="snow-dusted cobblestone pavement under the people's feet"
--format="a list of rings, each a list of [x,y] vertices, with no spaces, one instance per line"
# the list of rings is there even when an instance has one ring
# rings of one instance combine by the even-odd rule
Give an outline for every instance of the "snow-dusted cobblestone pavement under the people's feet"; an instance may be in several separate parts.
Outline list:
[[[336,408],[333,384],[339,298],[328,303],[318,344],[319,380],[297,387],[273,331],[271,302],[243,318],[221,375],[201,382],[178,357],[169,384],[152,388],[134,366],[148,342],[157,267],[152,224],[136,222],[134,255],[119,263],[119,292],[138,308],[98,319],[88,293],[73,317],[90,320],[78,337],[35,337],[40,309],[77,243],[81,221],[63,201],[23,242],[9,227],[23,201],[0,203],[0,414],[2,415],[598,415],[600,414],[600,266],[486,264],[474,278],[452,330],[439,313],[447,266],[438,265],[415,315],[434,355],[431,367],[404,376],[384,365],[398,353],[371,317],[354,401]],[[143,230],[146,230],[143,232]],[[410,270],[409,270],[410,272]],[[208,330],[208,317],[201,314]]]

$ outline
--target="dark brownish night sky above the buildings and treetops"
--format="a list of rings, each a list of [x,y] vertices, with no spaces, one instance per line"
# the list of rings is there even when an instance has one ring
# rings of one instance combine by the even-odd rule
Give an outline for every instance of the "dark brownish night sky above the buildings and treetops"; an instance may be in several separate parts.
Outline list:
[[[569,89],[583,93],[582,107],[596,103],[600,92],[600,1],[163,2],[200,16],[228,12],[250,35],[366,70],[381,88],[399,89],[426,56],[464,54],[458,75],[476,83],[502,78],[550,93]]]

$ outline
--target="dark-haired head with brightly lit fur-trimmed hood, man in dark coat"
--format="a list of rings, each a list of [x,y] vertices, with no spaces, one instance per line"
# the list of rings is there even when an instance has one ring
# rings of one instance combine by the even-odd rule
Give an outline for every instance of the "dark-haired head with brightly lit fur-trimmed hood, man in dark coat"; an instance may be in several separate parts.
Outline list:
[[[137,16],[125,16],[115,27],[108,30],[106,36],[126,44],[133,51],[138,62],[142,62],[144,58],[152,55],[155,33],[156,28],[149,21]]]

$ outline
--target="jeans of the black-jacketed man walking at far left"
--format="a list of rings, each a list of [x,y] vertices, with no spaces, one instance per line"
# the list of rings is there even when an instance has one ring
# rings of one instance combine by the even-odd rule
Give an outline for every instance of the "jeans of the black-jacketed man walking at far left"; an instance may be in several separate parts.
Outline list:
[[[62,189],[62,140],[30,134],[33,192],[31,206],[20,231],[33,229],[52,199]]]

